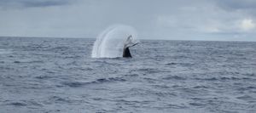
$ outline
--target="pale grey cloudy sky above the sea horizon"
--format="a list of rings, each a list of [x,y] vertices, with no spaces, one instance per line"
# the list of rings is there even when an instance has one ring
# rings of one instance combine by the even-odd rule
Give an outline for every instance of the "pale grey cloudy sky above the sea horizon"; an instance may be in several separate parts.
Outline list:
[[[256,0],[0,0],[0,37],[96,37],[130,25],[142,39],[256,41]]]

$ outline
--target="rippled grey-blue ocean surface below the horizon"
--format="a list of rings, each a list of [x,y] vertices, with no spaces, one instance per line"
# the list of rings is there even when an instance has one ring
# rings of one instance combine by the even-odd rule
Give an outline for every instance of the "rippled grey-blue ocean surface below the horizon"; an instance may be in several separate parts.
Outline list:
[[[141,40],[132,59],[94,42],[0,37],[0,113],[256,113],[256,42]]]

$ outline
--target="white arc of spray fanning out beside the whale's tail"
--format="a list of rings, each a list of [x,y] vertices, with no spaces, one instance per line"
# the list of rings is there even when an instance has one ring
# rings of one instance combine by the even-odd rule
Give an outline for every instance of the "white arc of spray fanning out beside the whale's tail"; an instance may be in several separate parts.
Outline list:
[[[131,38],[129,38],[131,36]],[[124,47],[130,47],[137,40],[137,32],[128,25],[112,25],[96,38],[92,58],[122,57]]]

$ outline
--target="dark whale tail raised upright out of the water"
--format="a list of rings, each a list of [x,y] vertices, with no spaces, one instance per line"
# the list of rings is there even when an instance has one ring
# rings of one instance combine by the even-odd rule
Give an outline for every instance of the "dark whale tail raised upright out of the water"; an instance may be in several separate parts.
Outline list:
[[[123,57],[132,58],[129,48],[131,48],[135,45],[137,45],[137,43],[132,43],[131,42],[131,36],[127,37],[127,40],[126,40],[126,43],[125,43],[124,49],[123,49]]]

